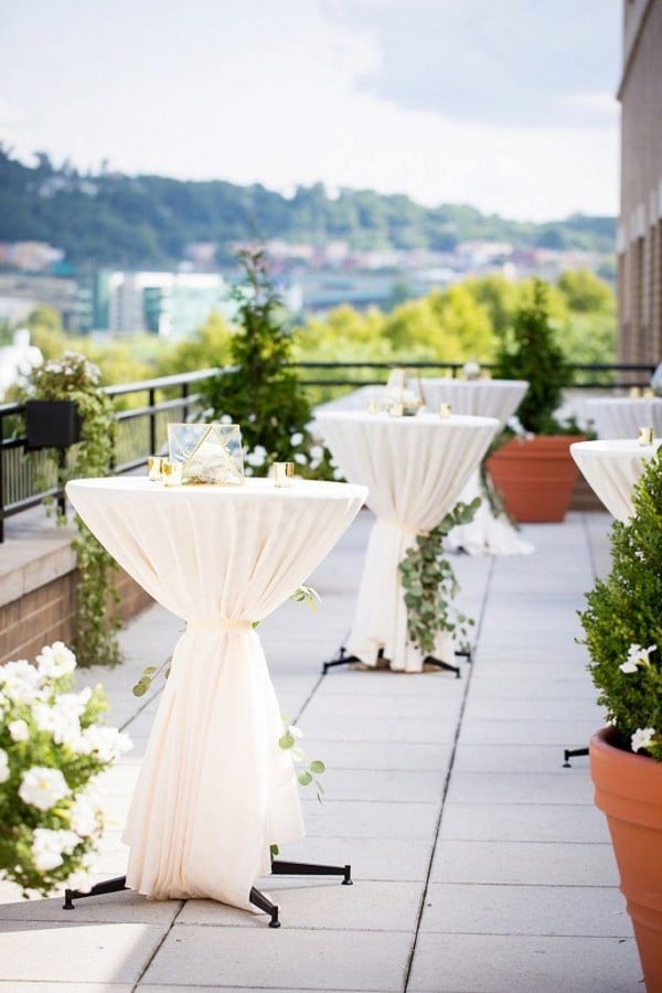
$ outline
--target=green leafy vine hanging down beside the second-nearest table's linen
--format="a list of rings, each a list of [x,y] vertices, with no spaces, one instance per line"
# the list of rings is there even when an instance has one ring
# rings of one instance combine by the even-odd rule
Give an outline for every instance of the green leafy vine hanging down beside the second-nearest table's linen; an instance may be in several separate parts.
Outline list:
[[[401,583],[407,608],[409,640],[424,655],[435,653],[437,636],[455,632],[461,648],[467,648],[473,619],[455,606],[459,590],[455,570],[444,554],[444,540],[459,524],[469,524],[480,506],[480,496],[471,503],[456,503],[451,511],[407,548],[399,563]]]

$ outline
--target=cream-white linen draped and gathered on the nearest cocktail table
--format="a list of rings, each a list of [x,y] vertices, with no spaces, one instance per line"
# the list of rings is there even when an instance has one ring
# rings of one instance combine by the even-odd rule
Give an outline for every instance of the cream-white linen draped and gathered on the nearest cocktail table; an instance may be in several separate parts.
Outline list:
[[[76,480],[66,492],[127,573],[186,620],[124,834],[127,885],[153,899],[210,897],[255,910],[248,894],[269,871],[269,845],[305,832],[253,624],[331,551],[366,491],[116,478]]]

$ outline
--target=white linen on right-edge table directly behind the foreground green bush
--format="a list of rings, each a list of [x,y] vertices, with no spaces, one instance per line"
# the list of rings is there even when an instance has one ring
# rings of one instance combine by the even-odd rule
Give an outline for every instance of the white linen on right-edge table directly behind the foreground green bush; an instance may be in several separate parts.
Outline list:
[[[619,521],[632,516],[632,490],[648,459],[653,458],[662,438],[652,445],[631,439],[575,441],[570,455],[592,491]]]

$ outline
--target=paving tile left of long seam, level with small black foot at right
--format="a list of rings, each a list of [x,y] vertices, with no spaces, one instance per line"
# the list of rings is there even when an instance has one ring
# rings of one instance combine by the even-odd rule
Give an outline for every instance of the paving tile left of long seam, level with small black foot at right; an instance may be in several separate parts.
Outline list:
[[[452,752],[451,743],[320,741],[314,735],[303,738],[303,747],[309,755],[321,758],[330,772],[334,769],[445,770]]]

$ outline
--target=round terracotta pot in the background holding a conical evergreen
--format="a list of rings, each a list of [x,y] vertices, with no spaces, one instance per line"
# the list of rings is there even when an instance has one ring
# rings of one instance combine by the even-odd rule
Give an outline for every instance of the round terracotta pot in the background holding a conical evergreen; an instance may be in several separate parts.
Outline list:
[[[578,469],[569,452],[583,436],[511,438],[488,459],[492,482],[516,521],[563,521]]]

